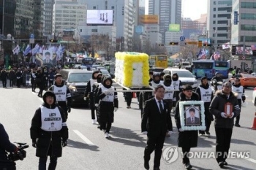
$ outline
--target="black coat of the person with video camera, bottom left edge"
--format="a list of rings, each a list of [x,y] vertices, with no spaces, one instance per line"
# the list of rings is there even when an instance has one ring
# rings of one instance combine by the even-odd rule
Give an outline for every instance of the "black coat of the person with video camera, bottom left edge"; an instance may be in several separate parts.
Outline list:
[[[9,136],[4,129],[4,125],[0,123],[0,161],[7,160],[7,155],[5,151],[15,152],[16,150],[17,150],[17,147],[15,146],[15,144],[12,144],[10,142]]]

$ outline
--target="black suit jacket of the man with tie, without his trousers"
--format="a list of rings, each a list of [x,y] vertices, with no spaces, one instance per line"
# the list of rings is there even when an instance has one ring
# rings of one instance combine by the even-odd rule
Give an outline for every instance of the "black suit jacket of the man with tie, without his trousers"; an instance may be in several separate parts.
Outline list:
[[[167,130],[173,131],[167,108],[167,103],[164,101],[164,111],[160,113],[155,98],[146,101],[141,120],[141,131],[147,131],[148,136],[165,135]]]

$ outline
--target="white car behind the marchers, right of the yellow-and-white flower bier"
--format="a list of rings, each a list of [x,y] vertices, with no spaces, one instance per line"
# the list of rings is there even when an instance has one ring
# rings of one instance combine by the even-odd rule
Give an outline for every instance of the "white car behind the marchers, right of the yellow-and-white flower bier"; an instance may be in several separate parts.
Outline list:
[[[177,73],[178,79],[181,80],[182,85],[191,85],[194,90],[198,87],[198,82],[195,79],[195,76],[187,69],[167,68],[164,69],[163,72],[165,72],[165,74],[170,74],[170,76],[173,76],[174,73]]]

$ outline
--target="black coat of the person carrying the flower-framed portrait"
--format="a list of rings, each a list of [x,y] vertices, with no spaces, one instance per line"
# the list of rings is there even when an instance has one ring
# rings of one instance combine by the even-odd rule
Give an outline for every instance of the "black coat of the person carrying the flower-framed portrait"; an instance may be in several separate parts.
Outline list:
[[[181,118],[179,115],[180,101],[199,101],[197,93],[192,92],[191,100],[188,100],[183,92],[179,93],[180,100],[176,104],[175,122],[177,128],[181,128]],[[178,131],[178,147],[197,147],[198,131]]]

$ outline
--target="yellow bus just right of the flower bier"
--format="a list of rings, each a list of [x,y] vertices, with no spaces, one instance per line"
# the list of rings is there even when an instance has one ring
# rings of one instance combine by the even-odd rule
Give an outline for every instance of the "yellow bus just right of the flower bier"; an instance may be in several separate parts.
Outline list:
[[[153,67],[167,68],[167,55],[149,55],[149,65]]]

